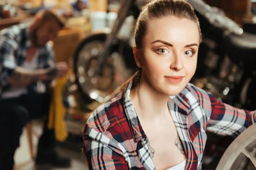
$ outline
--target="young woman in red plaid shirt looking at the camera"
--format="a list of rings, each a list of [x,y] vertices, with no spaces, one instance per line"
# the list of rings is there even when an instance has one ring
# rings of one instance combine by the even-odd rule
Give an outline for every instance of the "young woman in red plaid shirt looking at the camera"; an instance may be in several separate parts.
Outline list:
[[[135,28],[139,71],[89,117],[84,153],[90,169],[201,169],[205,130],[239,135],[256,112],[233,108],[189,83],[201,30],[186,0],[154,0]]]

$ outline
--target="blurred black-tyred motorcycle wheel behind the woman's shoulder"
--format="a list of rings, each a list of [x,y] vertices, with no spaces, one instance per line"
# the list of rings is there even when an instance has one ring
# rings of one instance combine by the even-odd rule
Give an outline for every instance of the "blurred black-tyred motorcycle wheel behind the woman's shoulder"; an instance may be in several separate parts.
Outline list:
[[[132,60],[131,49],[128,44],[115,40],[111,47],[111,53],[104,65],[102,76],[94,77],[97,59],[104,51],[104,43],[107,34],[94,34],[87,37],[76,50],[74,57],[74,72],[76,74],[76,84],[85,102],[104,102],[111,93],[122,83],[126,77],[122,73],[128,73],[123,54],[128,55]],[[130,51],[130,52],[127,52]],[[122,55],[121,55],[122,54]]]

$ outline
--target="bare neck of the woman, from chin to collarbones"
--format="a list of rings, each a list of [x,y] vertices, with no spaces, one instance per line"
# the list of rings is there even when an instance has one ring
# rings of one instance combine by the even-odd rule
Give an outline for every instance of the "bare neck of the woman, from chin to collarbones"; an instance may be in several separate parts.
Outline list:
[[[166,117],[166,113],[169,114],[169,96],[157,91],[143,77],[138,88],[131,91],[130,99],[138,116],[144,120],[162,119]]]

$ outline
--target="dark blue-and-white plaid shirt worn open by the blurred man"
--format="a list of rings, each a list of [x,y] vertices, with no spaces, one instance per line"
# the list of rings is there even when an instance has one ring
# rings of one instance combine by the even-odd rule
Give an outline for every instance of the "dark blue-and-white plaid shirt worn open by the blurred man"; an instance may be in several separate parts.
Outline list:
[[[26,60],[31,45],[29,24],[20,24],[0,31],[0,94],[8,86],[7,79],[16,66]],[[54,51],[49,44],[38,48],[38,68],[54,66]]]

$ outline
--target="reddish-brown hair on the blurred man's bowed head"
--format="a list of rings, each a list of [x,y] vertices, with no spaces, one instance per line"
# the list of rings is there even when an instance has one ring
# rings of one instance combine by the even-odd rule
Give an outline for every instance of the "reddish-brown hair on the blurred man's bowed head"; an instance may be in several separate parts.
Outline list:
[[[43,22],[55,20],[61,28],[65,26],[65,19],[53,10],[47,9],[38,11],[36,16],[40,17]]]

